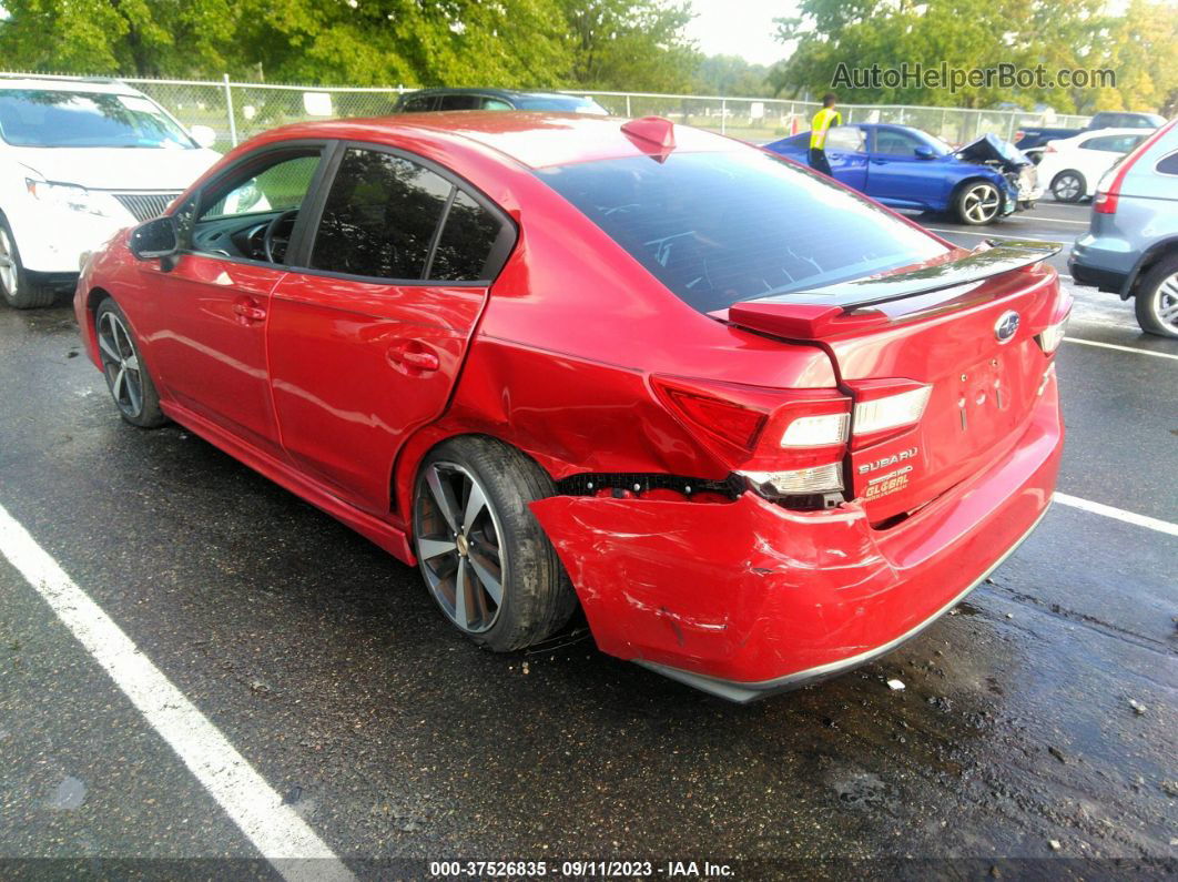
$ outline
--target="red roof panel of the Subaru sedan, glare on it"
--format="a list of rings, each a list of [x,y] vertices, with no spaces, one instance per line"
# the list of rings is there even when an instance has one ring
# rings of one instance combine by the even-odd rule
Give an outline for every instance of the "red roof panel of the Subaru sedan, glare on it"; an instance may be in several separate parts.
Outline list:
[[[489,147],[532,168],[597,159],[621,159],[656,153],[657,148],[622,131],[626,119],[555,111],[443,111],[395,117],[298,122],[276,130],[280,138],[340,138],[382,140],[380,135],[437,133]],[[667,125],[671,125],[669,121]],[[746,148],[742,141],[690,126],[674,126],[674,150],[728,152]]]

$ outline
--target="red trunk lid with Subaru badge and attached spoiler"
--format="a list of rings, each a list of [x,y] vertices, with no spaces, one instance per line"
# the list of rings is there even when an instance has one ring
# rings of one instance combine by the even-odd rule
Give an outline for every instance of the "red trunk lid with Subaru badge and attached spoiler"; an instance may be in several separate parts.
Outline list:
[[[1037,334],[1061,318],[1058,276],[1043,263],[1058,250],[987,243],[918,267],[735,304],[726,318],[821,345],[856,405],[929,387],[922,416],[906,429],[856,436],[856,406],[848,497],[880,523],[919,509],[1018,442],[1051,364]]]

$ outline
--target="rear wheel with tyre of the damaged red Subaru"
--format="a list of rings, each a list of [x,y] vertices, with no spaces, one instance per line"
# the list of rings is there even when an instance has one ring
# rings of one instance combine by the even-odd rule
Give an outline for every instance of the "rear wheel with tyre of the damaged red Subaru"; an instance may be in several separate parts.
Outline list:
[[[555,492],[519,451],[456,438],[426,457],[413,492],[413,550],[430,595],[462,634],[497,652],[569,621],[576,595],[528,504]]]

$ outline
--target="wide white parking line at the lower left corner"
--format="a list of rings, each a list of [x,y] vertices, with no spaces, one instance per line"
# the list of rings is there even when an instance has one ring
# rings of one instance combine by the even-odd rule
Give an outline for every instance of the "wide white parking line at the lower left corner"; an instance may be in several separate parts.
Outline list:
[[[290,882],[352,880],[224,735],[0,505],[0,553],[45,599],[234,824]]]

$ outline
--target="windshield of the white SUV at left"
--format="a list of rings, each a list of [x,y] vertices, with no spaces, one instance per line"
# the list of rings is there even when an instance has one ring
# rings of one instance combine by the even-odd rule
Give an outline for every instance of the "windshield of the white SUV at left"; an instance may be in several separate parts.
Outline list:
[[[14,147],[163,147],[197,145],[144,95],[0,89],[0,137]]]

